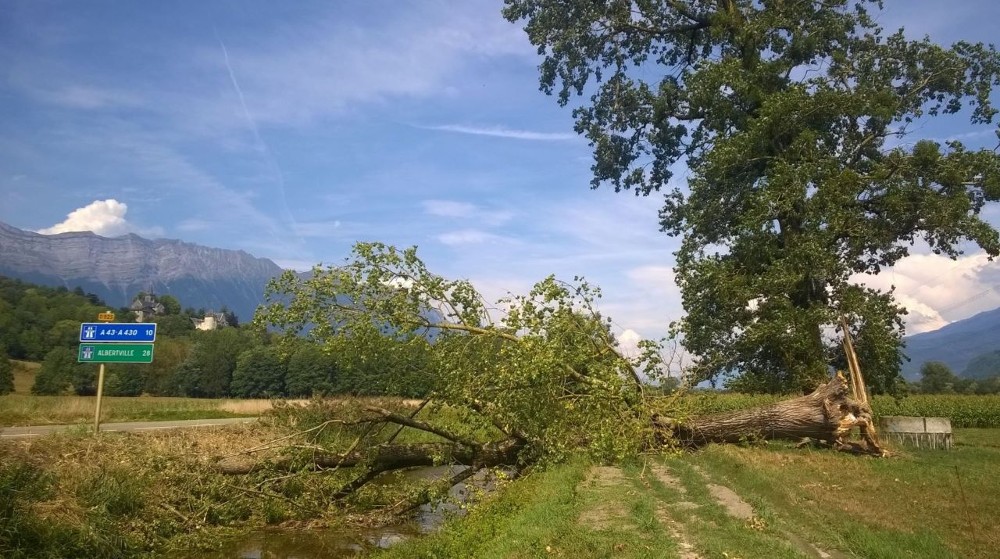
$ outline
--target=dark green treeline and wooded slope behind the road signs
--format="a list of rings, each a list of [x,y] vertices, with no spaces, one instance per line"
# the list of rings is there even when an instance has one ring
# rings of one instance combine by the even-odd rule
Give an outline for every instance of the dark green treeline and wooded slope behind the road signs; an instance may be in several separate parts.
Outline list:
[[[313,395],[426,394],[430,344],[423,339],[385,336],[374,326],[320,347],[303,338],[278,346],[267,334],[236,324],[201,331],[194,320],[203,309],[181,310],[176,298],[157,297],[164,314],[156,322],[153,362],[108,363],[104,393],[109,396],[188,396],[197,398],[310,397]],[[0,276],[0,394],[13,389],[9,358],[41,361],[32,392],[92,395],[98,365],[78,363],[81,322],[95,321],[107,305],[77,289],[41,287]],[[132,321],[127,308],[119,322]],[[6,367],[4,366],[6,364]],[[5,373],[5,371],[8,371]],[[5,389],[6,387],[6,389]]]

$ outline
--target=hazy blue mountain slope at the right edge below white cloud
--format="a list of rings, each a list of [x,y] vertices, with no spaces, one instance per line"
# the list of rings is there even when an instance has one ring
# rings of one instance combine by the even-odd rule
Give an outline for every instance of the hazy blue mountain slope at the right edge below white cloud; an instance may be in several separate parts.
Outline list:
[[[909,363],[903,363],[907,380],[918,379],[920,367],[927,361],[941,361],[955,374],[963,374],[974,359],[1000,350],[1000,308],[933,332],[907,336],[903,341],[903,353],[910,358]]]

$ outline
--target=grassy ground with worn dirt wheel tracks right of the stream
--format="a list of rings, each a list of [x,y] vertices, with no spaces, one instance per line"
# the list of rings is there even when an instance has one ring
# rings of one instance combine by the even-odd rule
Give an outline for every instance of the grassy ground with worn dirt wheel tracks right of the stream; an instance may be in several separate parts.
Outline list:
[[[994,557],[1000,430],[955,437],[889,459],[771,444],[570,462],[380,557]]]

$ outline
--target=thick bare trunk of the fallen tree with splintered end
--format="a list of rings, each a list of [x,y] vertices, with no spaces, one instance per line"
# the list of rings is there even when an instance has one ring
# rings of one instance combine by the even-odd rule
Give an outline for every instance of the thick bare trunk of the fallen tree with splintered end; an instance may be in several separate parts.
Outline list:
[[[689,447],[755,439],[814,439],[838,450],[884,455],[875,436],[871,408],[850,398],[850,393],[847,379],[838,372],[806,396],[683,423],[658,420],[658,426],[670,429],[676,440]],[[854,427],[860,428],[863,445],[847,440]]]

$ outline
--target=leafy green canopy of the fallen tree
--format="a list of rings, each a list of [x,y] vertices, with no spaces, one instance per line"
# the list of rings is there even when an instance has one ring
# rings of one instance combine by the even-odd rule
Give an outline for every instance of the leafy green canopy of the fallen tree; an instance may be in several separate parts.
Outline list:
[[[490,306],[468,281],[430,272],[415,248],[358,243],[343,266],[272,281],[254,324],[276,331],[279,346],[298,348],[305,336],[326,350],[351,347],[356,361],[392,367],[386,382],[427,383],[428,401],[468,426],[441,435],[462,447],[491,444],[481,437],[486,426],[522,461],[557,459],[581,445],[610,458],[642,444],[650,410],[636,373],[643,363],[618,352],[594,309],[598,296],[585,282],[549,277]],[[493,316],[491,308],[503,311]],[[387,346],[371,343],[373,327],[396,342],[392,359]]]

